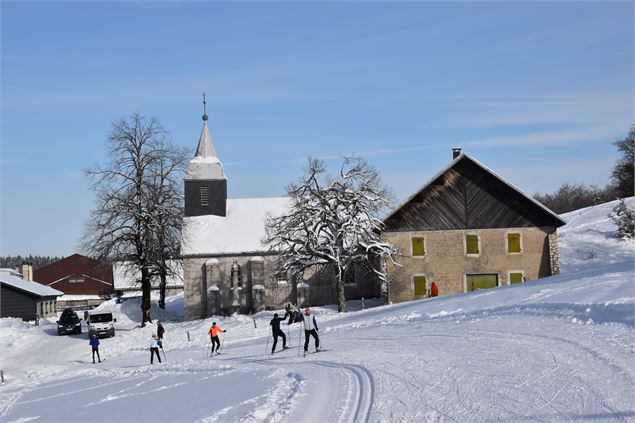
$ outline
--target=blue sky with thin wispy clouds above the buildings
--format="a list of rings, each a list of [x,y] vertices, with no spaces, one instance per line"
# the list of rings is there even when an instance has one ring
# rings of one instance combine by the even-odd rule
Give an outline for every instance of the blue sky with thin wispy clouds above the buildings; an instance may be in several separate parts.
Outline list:
[[[81,253],[112,123],[209,126],[229,197],[362,155],[397,200],[451,148],[527,194],[609,182],[635,122],[632,2],[6,2],[0,255]]]

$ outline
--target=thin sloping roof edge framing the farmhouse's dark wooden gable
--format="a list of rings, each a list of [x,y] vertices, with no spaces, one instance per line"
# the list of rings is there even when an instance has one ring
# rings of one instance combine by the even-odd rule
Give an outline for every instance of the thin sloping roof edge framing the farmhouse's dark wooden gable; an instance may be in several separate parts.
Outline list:
[[[487,166],[485,166],[482,163],[480,163],[478,160],[474,159],[473,157],[471,157],[471,156],[469,156],[469,155],[467,155],[465,153],[460,154],[457,158],[452,160],[445,168],[443,168],[441,171],[439,171],[437,174],[435,174],[432,178],[430,178],[421,188],[419,188],[417,191],[415,191],[406,200],[404,200],[401,204],[399,204],[399,206],[397,206],[394,210],[392,210],[390,213],[388,213],[387,216],[383,219],[384,224],[387,224],[402,209],[404,209],[404,207],[406,207],[408,204],[413,202],[417,197],[425,197],[425,194],[428,194],[429,191],[432,190],[432,186],[437,181],[439,181],[446,173],[448,173],[450,170],[458,167],[460,164],[465,164],[466,162],[469,162],[470,164],[476,166],[482,172],[484,172],[486,175],[489,175],[490,177],[496,179],[501,184],[503,184],[509,191],[515,193],[516,195],[518,195],[521,198],[523,198],[524,200],[526,200],[532,207],[534,207],[535,210],[537,210],[539,213],[541,213],[545,218],[548,218],[552,222],[554,227],[557,228],[557,227],[560,227],[560,226],[563,226],[563,225],[566,224],[566,222],[564,220],[562,220],[559,215],[557,215],[556,213],[554,213],[553,211],[551,211],[550,209],[545,207],[540,202],[536,201],[531,196],[525,194],[520,189],[516,188],[514,185],[512,185],[510,182],[508,182],[505,178],[503,178],[500,175],[496,174],[494,171],[492,171],[490,168],[488,168]],[[441,229],[441,228],[439,228],[439,229]]]

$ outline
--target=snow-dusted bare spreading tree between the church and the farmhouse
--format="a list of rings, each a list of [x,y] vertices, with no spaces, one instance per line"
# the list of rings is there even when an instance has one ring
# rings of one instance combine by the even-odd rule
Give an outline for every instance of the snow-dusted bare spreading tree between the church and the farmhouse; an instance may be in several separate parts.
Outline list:
[[[390,191],[359,157],[345,158],[338,175],[309,159],[297,184],[287,188],[288,213],[269,217],[263,243],[278,253],[276,273],[297,280],[309,269],[330,267],[336,275],[338,310],[346,312],[344,275],[363,265],[387,284],[382,260],[394,262],[396,249],[380,242],[379,213],[390,205]]]

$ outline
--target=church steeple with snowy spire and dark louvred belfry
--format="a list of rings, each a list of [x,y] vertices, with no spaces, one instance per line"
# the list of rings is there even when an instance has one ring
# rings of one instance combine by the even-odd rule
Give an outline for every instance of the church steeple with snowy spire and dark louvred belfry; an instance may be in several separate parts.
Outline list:
[[[185,172],[185,216],[226,215],[227,178],[207,127],[207,102],[203,93],[203,129],[196,155]]]

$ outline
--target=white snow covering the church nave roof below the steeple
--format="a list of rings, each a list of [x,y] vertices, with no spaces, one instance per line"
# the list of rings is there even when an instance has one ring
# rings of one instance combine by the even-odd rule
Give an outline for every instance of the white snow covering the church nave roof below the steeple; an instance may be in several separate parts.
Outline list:
[[[280,216],[289,205],[288,197],[230,198],[225,217],[186,217],[182,254],[265,252],[267,247],[260,241],[265,236],[267,215]]]

